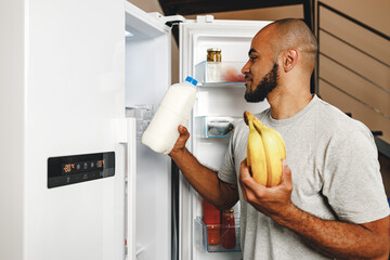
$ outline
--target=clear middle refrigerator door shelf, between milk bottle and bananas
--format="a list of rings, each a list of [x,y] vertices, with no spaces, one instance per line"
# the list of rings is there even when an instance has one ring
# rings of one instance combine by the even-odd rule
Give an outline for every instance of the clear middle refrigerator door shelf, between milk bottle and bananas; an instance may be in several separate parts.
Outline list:
[[[235,117],[195,117],[195,136],[230,138],[238,119]]]

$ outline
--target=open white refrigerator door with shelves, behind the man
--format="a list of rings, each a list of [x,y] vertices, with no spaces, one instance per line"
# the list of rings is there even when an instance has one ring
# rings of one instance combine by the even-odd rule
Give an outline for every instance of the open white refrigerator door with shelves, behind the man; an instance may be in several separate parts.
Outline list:
[[[248,60],[250,41],[256,32],[270,22],[260,21],[218,21],[213,16],[197,16],[194,21],[186,21],[180,25],[180,67],[181,80],[186,76],[199,78],[195,75],[195,67],[206,61],[207,49],[220,48],[222,62],[231,62],[240,70]],[[202,78],[202,77],[200,77]],[[200,82],[202,83],[202,82]],[[258,113],[266,107],[266,102],[248,104],[244,100],[244,83],[231,87],[213,86],[197,88],[197,101],[193,109],[190,126],[191,139],[188,148],[194,156],[211,169],[221,167],[229,138],[198,138],[195,129],[199,117],[233,117],[242,119],[244,110]],[[180,182],[180,257],[182,260],[207,259],[242,259],[240,251],[208,252],[199,245],[199,237],[194,220],[202,217],[202,198],[188,185],[183,177]],[[236,206],[236,217],[239,207]],[[200,232],[202,233],[202,232]],[[197,234],[197,233],[196,233]]]

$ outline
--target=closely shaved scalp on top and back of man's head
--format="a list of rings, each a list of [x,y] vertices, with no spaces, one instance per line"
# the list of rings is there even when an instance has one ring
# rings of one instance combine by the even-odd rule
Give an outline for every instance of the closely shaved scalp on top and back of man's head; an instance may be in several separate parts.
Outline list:
[[[286,50],[296,49],[300,53],[300,64],[312,73],[315,65],[317,42],[315,36],[301,20],[280,20],[261,29],[257,36],[265,34],[274,57]]]

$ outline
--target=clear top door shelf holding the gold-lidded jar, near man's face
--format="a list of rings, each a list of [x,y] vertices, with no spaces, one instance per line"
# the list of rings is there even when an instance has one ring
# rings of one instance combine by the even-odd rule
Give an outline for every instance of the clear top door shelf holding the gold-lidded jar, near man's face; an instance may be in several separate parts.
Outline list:
[[[240,73],[243,62],[202,62],[195,65],[195,79],[203,87],[217,86],[244,86],[245,78]],[[213,86],[213,84],[212,84]]]

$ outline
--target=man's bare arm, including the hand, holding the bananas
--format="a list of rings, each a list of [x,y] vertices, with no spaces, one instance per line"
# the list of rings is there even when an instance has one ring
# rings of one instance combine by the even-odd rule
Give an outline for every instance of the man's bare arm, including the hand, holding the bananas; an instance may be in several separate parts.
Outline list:
[[[323,220],[298,209],[290,200],[291,172],[283,166],[280,185],[265,187],[249,174],[242,162],[239,183],[244,198],[278,224],[299,234],[316,250],[341,259],[388,259],[389,217],[363,224]]]

